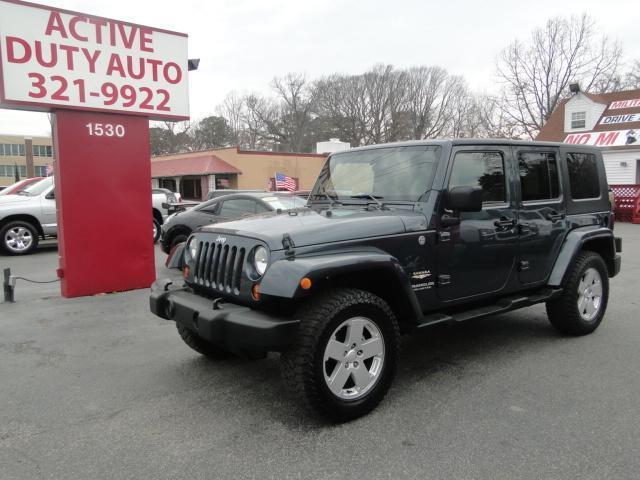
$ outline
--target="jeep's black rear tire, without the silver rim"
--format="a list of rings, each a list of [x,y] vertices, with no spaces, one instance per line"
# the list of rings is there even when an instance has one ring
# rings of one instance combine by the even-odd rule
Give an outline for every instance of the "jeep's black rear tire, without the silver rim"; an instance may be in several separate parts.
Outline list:
[[[589,268],[596,269],[600,274],[602,297],[596,316],[586,321],[578,309],[578,286]],[[560,297],[547,302],[547,316],[551,325],[565,335],[580,336],[592,333],[602,322],[609,299],[609,275],[602,257],[589,250],[580,252],[573,262],[563,289]]]

